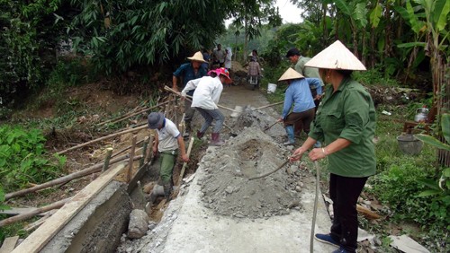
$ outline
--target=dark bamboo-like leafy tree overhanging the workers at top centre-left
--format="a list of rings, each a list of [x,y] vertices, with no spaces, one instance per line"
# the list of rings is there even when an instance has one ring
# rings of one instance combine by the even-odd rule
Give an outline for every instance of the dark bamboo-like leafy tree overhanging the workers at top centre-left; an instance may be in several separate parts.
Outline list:
[[[97,70],[121,74],[212,45],[225,31],[226,1],[82,1],[69,31]],[[180,54],[181,53],[181,54]]]

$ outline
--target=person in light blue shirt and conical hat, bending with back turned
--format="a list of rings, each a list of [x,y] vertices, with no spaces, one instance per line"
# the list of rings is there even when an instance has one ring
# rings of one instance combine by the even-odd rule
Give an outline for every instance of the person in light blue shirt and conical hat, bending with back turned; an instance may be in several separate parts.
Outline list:
[[[322,93],[322,87],[319,79],[304,78],[302,74],[291,67],[284,72],[278,81],[287,81],[289,85],[284,94],[282,117],[278,121],[284,122],[284,129],[288,138],[284,145],[293,145],[295,144],[293,125],[302,121],[303,131],[308,135],[311,121],[315,116],[316,105],[311,96],[310,86],[315,85],[318,94]]]

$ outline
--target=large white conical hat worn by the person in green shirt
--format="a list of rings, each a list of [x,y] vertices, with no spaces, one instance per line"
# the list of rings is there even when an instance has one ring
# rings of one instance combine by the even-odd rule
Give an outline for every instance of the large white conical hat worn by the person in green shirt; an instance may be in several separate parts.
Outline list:
[[[326,69],[365,70],[365,65],[339,40],[336,40],[328,48],[323,49],[315,57],[312,57],[305,66]]]

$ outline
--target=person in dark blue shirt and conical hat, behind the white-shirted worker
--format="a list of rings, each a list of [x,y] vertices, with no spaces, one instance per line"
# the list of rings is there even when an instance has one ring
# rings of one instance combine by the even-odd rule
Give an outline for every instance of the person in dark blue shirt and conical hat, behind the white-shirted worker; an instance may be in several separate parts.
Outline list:
[[[178,78],[182,78],[184,88],[187,82],[193,79],[201,78],[207,74],[206,69],[202,66],[203,63],[206,63],[203,59],[202,52],[198,51],[193,55],[193,57],[187,58],[191,60],[191,62],[180,65],[180,67],[175,70],[174,76],[172,77],[172,89],[176,92],[178,92]],[[188,92],[187,94],[192,96],[193,91]],[[195,109],[191,108],[191,101],[184,100],[184,124],[186,126],[183,135],[184,137],[189,137],[192,132],[191,121],[194,113]]]

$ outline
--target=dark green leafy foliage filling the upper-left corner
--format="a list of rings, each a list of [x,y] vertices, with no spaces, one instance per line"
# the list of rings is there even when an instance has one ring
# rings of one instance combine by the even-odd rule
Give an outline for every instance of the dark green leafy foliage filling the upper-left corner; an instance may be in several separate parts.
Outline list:
[[[47,79],[64,32],[64,22],[56,22],[64,13],[63,2],[0,1],[0,107],[14,104]]]

